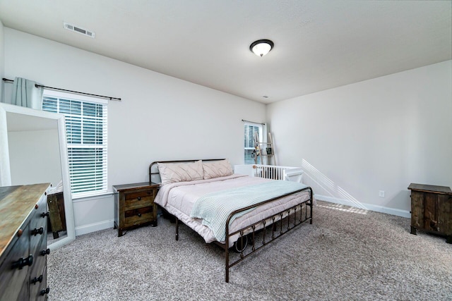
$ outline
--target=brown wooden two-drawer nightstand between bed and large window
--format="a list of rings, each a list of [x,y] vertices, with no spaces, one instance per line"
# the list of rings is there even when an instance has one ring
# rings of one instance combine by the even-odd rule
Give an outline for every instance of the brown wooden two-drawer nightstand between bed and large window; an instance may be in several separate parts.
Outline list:
[[[154,203],[160,185],[133,183],[114,185],[114,228],[122,231],[138,226],[157,226],[157,204]]]

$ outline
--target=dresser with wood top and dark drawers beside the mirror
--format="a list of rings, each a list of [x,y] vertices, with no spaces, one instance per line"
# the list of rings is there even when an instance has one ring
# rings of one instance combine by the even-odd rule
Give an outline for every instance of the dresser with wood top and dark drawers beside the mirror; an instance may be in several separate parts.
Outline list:
[[[0,300],[47,300],[49,186],[0,187]]]

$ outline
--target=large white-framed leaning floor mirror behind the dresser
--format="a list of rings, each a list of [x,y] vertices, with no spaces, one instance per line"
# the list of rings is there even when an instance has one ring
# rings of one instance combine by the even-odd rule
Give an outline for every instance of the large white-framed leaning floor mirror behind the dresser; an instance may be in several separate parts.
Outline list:
[[[64,116],[0,103],[0,151],[0,186],[52,183],[48,202],[62,188],[58,195],[64,204],[61,221],[65,220],[66,231],[58,238],[53,235],[54,240],[48,233],[47,247],[54,250],[74,240]]]

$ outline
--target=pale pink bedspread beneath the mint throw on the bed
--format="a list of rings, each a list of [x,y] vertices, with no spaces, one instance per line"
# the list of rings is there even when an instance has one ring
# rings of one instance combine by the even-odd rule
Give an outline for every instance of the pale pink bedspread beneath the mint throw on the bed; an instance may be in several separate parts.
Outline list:
[[[244,175],[234,174],[232,176],[213,178],[209,180],[194,180],[191,182],[178,182],[162,185],[155,202],[165,208],[170,214],[173,214],[180,221],[185,223],[190,228],[194,229],[199,235],[201,235],[206,242],[213,242],[215,236],[207,226],[203,226],[201,220],[190,217],[191,209],[199,197],[206,195],[210,192],[217,192],[221,190],[227,190],[232,188],[244,187],[246,185],[256,185],[259,183],[265,183],[268,180],[265,178],[254,178]],[[235,219],[230,225],[230,231],[238,230],[265,219],[268,216],[276,214],[284,209],[295,206],[300,201],[309,199],[309,190],[299,192],[295,195],[289,195],[281,199],[275,200],[270,204],[266,204],[250,211],[243,216]],[[234,240],[237,240],[237,236],[230,238],[229,246],[232,245]],[[222,243],[225,243],[222,241]]]

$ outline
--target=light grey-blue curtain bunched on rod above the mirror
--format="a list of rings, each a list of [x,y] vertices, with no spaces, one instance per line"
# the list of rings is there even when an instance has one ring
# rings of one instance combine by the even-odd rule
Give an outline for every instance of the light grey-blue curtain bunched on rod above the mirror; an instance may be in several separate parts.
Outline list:
[[[14,78],[11,104],[26,106],[31,109],[42,109],[42,87],[36,87],[36,82],[25,78]]]

